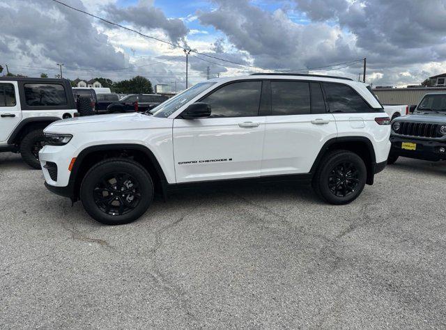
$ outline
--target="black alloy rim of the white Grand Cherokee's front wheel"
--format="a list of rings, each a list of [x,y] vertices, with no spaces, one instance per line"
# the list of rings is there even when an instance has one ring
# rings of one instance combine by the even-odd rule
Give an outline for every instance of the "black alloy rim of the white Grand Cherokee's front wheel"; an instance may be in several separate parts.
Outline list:
[[[139,184],[128,173],[109,173],[95,184],[93,198],[99,209],[106,214],[128,214],[141,201]]]

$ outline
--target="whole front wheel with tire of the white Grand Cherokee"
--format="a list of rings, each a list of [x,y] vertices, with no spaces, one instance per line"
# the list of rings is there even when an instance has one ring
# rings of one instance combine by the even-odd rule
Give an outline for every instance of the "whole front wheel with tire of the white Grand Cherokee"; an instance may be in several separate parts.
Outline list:
[[[151,175],[139,163],[112,158],[95,164],[84,176],[80,199],[86,212],[105,225],[130,223],[153,200]]]

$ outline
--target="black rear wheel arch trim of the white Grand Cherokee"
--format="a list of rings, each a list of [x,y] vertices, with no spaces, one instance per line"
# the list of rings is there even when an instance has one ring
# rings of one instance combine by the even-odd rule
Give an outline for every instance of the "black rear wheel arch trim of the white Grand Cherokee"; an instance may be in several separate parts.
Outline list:
[[[316,173],[321,163],[322,157],[330,150],[349,150],[359,155],[367,168],[367,184],[374,183],[374,164],[376,164],[376,155],[374,145],[370,139],[365,136],[343,136],[328,140],[314,160],[310,173]]]

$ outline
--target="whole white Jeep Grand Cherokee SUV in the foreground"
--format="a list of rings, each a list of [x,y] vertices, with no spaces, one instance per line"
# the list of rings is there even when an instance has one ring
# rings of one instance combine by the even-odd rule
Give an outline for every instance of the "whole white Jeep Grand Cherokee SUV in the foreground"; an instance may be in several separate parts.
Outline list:
[[[328,203],[350,203],[390,150],[369,86],[311,74],[208,80],[151,112],[61,120],[45,134],[47,188],[106,224],[140,217],[155,190],[210,182],[312,182]]]

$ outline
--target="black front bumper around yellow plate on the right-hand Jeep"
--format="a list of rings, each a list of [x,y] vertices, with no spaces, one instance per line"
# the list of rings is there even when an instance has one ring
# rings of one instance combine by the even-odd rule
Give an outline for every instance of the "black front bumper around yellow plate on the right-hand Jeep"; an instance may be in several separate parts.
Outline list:
[[[429,160],[432,162],[446,159],[446,152],[440,152],[440,148],[445,148],[446,150],[446,141],[431,141],[390,136],[390,142],[392,143],[392,148],[390,149],[392,155]],[[401,143],[403,142],[416,143],[417,147],[415,150],[401,149]]]

